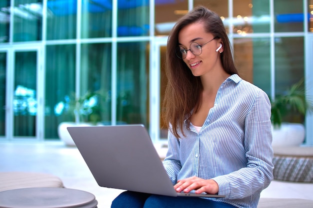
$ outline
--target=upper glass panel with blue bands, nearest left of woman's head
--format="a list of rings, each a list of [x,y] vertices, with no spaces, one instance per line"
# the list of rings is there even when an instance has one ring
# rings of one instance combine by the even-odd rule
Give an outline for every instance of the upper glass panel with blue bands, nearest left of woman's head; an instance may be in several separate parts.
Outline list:
[[[149,35],[149,0],[118,0],[117,36]]]

